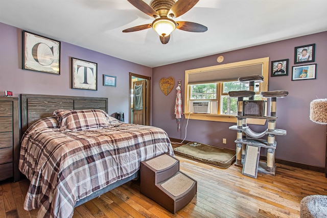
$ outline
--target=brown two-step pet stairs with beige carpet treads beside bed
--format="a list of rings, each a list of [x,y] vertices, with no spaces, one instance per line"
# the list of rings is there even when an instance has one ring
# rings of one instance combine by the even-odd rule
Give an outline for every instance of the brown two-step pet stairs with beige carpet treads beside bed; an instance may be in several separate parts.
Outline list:
[[[162,154],[141,162],[140,192],[171,213],[183,208],[196,194],[197,182],[179,171],[179,160]]]

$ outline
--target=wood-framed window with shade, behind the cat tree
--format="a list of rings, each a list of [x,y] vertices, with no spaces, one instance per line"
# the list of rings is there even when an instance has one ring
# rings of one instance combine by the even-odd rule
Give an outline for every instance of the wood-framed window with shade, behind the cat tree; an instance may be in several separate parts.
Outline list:
[[[268,90],[268,71],[269,58],[186,70],[187,91],[184,98],[186,117],[236,123],[237,98],[230,98],[228,92],[249,90],[249,84],[239,82],[238,78],[260,74],[264,76],[264,82],[254,84],[254,99],[261,100],[260,92]],[[199,101],[208,102],[210,109],[205,110],[206,113],[189,114],[193,112],[194,102]],[[265,120],[258,122],[258,119],[248,119],[248,123],[253,123],[252,121],[255,124],[265,123]]]

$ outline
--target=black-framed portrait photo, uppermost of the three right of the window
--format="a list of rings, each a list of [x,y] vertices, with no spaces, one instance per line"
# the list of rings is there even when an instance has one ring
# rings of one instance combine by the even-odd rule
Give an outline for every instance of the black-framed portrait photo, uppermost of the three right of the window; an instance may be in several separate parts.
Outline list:
[[[307,44],[295,47],[294,64],[315,61],[316,44]]]

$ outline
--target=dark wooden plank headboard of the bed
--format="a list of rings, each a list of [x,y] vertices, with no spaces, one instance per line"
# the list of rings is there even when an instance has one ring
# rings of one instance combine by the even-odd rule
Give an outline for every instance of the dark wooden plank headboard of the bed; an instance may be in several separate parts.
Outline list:
[[[21,94],[21,131],[24,133],[37,120],[53,116],[57,109],[101,109],[108,112],[108,98],[44,94]]]

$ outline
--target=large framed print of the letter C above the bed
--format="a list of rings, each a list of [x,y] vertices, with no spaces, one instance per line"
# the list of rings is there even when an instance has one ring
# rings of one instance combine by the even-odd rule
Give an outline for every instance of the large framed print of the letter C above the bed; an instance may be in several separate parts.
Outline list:
[[[60,41],[22,32],[22,68],[60,74]]]

